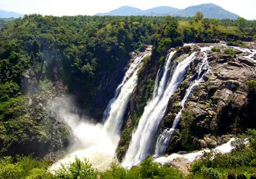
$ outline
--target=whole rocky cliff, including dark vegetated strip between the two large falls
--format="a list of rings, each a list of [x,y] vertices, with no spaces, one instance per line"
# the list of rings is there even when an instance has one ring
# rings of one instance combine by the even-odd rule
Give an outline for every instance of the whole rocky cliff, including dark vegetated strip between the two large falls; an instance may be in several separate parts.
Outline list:
[[[173,121],[181,109],[180,102],[186,89],[194,80],[195,74],[198,73],[196,67],[203,56],[200,47],[210,45],[194,44],[181,47],[176,53],[176,58],[179,61],[184,60],[191,52],[197,51],[199,55],[190,63],[185,79],[169,99],[168,107],[159,127],[159,134],[164,129],[172,127]],[[249,80],[256,80],[255,56],[250,56],[251,59],[249,59],[247,51],[222,44],[217,44],[216,48],[218,50],[207,51],[210,71],[205,74],[203,80],[189,95],[182,110],[180,123],[170,139],[166,153],[205,147],[212,148],[227,142],[232,135],[243,131],[245,128],[255,127],[253,119],[256,116],[256,106],[253,105],[253,101],[256,98],[247,86]],[[230,55],[226,49],[232,49],[237,55]],[[130,101],[129,112],[119,143],[119,159],[122,158],[129,146],[132,131],[137,125],[141,113],[143,113],[146,101],[151,98],[152,93],[148,91],[152,91],[152,84],[148,85],[148,83],[153,83],[154,89],[156,74],[159,66],[162,65],[163,60],[151,58],[150,63],[143,66],[147,70],[139,74],[139,77],[142,76],[143,78],[138,79],[138,85],[134,89]],[[145,102],[141,103],[141,101]]]

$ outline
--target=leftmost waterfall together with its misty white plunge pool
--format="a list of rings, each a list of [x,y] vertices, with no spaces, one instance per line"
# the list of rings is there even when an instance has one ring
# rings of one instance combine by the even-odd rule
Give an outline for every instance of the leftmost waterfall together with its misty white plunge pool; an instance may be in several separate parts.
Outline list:
[[[89,159],[93,167],[105,170],[115,161],[115,151],[119,142],[119,133],[123,114],[130,100],[134,87],[137,85],[138,64],[150,55],[144,53],[136,58],[125,73],[121,84],[118,85],[114,98],[110,101],[105,114],[104,124],[93,124],[88,119],[81,119],[70,112],[69,101],[51,102],[49,108],[54,111],[57,120],[66,123],[76,137],[76,141],[68,154],[54,163],[50,171],[55,171],[61,164],[74,162],[75,158]],[[63,105],[60,105],[63,104]]]

